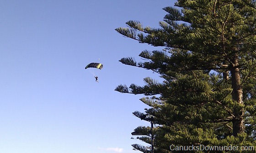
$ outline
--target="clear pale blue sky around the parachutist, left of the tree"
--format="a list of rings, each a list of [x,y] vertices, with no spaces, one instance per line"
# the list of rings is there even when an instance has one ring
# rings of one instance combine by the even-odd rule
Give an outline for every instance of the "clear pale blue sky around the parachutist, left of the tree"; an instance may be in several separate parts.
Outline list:
[[[114,29],[158,27],[173,0],[0,0],[0,153],[136,153],[143,95],[114,91],[157,74],[118,62],[154,50]],[[99,83],[88,63],[104,65]],[[87,71],[88,70],[88,71]]]

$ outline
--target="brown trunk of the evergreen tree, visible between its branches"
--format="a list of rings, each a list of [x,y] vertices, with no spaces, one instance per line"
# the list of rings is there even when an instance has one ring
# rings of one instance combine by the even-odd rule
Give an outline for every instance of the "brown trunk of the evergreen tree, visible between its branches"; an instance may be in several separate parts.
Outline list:
[[[235,118],[233,119],[233,136],[237,136],[238,133],[244,132],[244,111],[239,106],[239,104],[243,103],[243,92],[240,86],[240,69],[239,69],[239,60],[238,56],[235,55],[232,60],[232,66],[230,69],[231,73],[231,81],[232,81],[232,99],[237,102],[233,108],[233,115]]]

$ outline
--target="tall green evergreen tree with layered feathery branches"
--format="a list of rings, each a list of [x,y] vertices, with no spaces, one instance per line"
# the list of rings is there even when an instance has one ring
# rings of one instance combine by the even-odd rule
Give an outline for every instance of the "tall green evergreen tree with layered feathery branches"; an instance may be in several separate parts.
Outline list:
[[[164,79],[119,85],[122,93],[144,94],[150,106],[135,116],[153,116],[155,153],[256,152],[256,1],[177,0],[160,28],[128,21],[123,36],[165,47],[142,51],[149,59],[120,62],[150,69]],[[160,96],[158,96],[160,95]],[[147,136],[149,127],[137,127]],[[139,137],[150,144],[149,137]],[[254,151],[171,150],[171,146],[252,146]],[[134,144],[143,152],[144,146]]]

